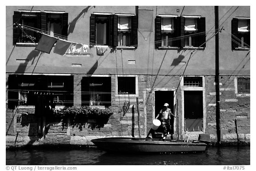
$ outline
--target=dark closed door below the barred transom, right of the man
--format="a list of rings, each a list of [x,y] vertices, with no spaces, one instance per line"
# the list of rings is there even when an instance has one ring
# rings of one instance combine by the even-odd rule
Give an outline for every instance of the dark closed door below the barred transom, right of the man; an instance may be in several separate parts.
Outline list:
[[[185,131],[203,131],[203,91],[184,91]]]

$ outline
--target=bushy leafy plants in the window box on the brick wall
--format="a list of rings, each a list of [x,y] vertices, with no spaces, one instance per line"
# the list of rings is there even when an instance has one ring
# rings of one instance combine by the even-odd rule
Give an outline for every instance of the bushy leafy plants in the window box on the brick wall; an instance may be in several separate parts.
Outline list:
[[[108,108],[100,109],[89,106],[74,106],[68,107],[65,110],[55,108],[53,113],[60,117],[63,127],[78,127],[80,131],[82,131],[86,123],[88,124],[88,128],[92,130],[104,127],[104,124],[108,123],[109,117],[113,114]],[[90,119],[94,119],[96,122],[90,123]]]

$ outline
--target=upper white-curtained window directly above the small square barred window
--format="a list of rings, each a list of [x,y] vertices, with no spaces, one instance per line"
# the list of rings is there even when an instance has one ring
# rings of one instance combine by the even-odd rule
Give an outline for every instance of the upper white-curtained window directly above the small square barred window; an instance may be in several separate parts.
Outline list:
[[[118,46],[132,45],[132,18],[118,16]]]

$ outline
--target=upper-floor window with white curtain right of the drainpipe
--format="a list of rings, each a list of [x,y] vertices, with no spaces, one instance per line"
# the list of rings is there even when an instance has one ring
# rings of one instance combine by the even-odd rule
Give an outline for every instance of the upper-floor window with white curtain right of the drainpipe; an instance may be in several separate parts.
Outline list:
[[[232,50],[238,48],[250,48],[250,19],[232,19]]]

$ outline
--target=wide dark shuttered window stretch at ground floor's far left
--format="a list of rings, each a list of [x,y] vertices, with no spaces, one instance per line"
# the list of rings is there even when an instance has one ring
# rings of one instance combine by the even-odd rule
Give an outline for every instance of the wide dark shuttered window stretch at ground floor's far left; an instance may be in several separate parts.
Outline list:
[[[9,76],[8,99],[15,106],[34,106],[38,96],[43,96],[45,103],[54,101],[56,105],[73,105],[72,76]],[[8,102],[9,103],[9,102]]]

